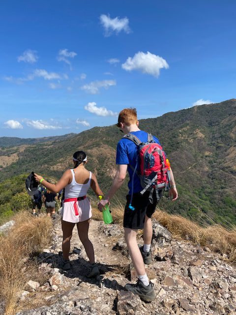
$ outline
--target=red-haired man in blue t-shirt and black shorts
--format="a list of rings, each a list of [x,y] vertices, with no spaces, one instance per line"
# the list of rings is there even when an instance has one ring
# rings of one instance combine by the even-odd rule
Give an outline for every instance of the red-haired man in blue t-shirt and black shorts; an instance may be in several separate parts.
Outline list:
[[[111,189],[105,195],[104,200],[100,201],[100,203],[98,204],[98,208],[100,211],[102,211],[102,208],[109,202],[116,191],[121,187],[125,180],[126,171],[128,168],[128,173],[130,177],[130,181],[128,183],[129,194],[126,196],[127,203],[124,210],[123,227],[125,242],[127,244],[134,268],[138,275],[138,281],[136,284],[126,284],[125,288],[128,291],[138,294],[140,298],[144,301],[151,302],[152,300],[154,300],[155,294],[153,286],[148,280],[144,263],[151,263],[151,216],[155,211],[155,207],[161,196],[162,189],[151,189],[153,185],[154,188],[156,187],[155,184],[157,185],[157,182],[155,182],[155,178],[157,177],[154,178],[154,176],[149,176],[149,188],[145,188],[147,189],[147,191],[143,191],[145,189],[144,186],[141,186],[141,177],[138,174],[140,164],[142,164],[139,156],[139,149],[140,146],[142,146],[144,143],[147,144],[148,140],[152,143],[157,144],[159,144],[159,140],[156,137],[152,137],[150,134],[148,135],[147,132],[139,129],[139,122],[137,120],[137,112],[135,108],[123,109],[119,113],[117,126],[119,127],[120,131],[125,134],[125,136],[118,142],[117,146],[117,173],[115,175]],[[136,136],[138,139],[134,136]],[[136,141],[136,143],[134,140]],[[139,143],[137,143],[137,141],[139,141]],[[154,146],[156,145],[154,144]],[[159,149],[156,148],[154,151],[156,152],[157,150]],[[147,156],[147,151],[145,151],[145,153]],[[163,163],[163,158],[158,157],[158,160],[162,160]],[[158,174],[158,172],[155,174]],[[171,187],[169,190],[169,194],[174,201],[177,199],[178,193],[175,185],[174,176],[170,168],[169,177]],[[144,246],[141,249],[138,247],[137,243],[138,229],[144,229]]]

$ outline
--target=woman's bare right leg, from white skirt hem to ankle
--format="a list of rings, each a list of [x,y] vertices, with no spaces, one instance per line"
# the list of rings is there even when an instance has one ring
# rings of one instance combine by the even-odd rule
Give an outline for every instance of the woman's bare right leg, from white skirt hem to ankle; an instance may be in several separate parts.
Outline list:
[[[88,232],[89,232],[89,221],[86,220],[83,222],[77,223],[77,229],[79,233],[79,238],[84,245],[87,256],[89,257],[89,262],[91,264],[94,263],[94,250],[91,241],[89,240]]]

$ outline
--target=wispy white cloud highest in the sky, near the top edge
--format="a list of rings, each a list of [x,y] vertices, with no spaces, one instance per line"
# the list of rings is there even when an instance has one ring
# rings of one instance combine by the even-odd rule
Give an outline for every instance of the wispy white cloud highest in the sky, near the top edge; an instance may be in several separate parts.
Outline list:
[[[112,32],[119,33],[124,31],[130,33],[129,19],[127,17],[119,19],[118,16],[115,19],[111,19],[110,15],[100,15],[100,22],[105,29],[105,36],[110,36]]]

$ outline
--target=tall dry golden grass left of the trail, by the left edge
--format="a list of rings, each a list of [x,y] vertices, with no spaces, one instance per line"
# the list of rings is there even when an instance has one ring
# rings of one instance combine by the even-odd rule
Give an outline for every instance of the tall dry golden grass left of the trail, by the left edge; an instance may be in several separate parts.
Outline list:
[[[19,292],[35,270],[26,265],[24,258],[50,244],[52,235],[52,222],[46,216],[32,218],[22,212],[13,220],[15,226],[0,237],[0,298],[5,303],[6,315],[21,309]]]

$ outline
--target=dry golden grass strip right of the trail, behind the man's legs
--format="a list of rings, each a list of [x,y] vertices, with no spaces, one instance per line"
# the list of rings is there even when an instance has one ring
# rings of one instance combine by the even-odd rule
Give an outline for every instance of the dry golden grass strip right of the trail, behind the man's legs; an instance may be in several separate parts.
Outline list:
[[[123,220],[124,208],[120,202],[115,201],[112,207],[112,216],[115,223]],[[170,215],[157,209],[153,218],[166,227],[175,238],[191,240],[196,244],[207,246],[213,252],[225,253],[229,261],[236,263],[236,227],[229,225],[229,229],[219,224],[200,226],[198,223],[190,221],[180,215]],[[102,214],[93,209],[93,219],[102,220]],[[210,220],[210,218],[208,218]],[[139,233],[141,236],[142,233]]]

